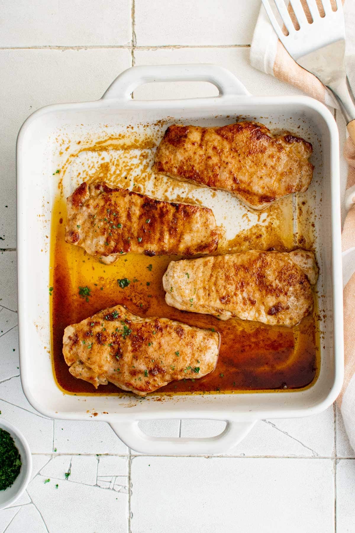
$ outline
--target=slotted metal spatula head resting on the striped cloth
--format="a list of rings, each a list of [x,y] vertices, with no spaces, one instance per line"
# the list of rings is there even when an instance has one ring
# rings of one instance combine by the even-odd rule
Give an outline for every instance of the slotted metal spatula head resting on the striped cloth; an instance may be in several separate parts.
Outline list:
[[[355,99],[345,71],[341,0],[261,1],[287,52],[328,88],[339,103],[346,123],[354,120]],[[355,140],[355,123],[348,125],[350,134],[351,129]]]

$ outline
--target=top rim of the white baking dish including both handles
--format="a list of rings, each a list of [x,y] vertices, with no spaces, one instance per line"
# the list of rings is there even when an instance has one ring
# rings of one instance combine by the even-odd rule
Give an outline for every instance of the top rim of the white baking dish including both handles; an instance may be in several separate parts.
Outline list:
[[[342,306],[342,260],[341,260],[341,221],[340,221],[340,187],[339,187],[339,135],[337,126],[331,112],[317,100],[311,99],[308,96],[283,96],[283,97],[251,97],[250,93],[246,91],[240,80],[238,80],[228,70],[210,64],[198,64],[198,65],[166,65],[166,66],[154,66],[154,67],[132,67],[120,74],[108,90],[105,92],[101,100],[89,103],[73,103],[73,104],[56,104],[54,106],[47,106],[39,109],[32,114],[26,122],[22,125],[17,146],[17,158],[18,161],[21,158],[21,142],[23,136],[28,127],[31,126],[32,121],[37,120],[40,116],[46,114],[48,111],[63,111],[65,109],[81,110],[81,109],[100,109],[105,104],[106,107],[127,107],[130,109],[139,109],[142,106],[141,101],[131,99],[131,93],[134,89],[142,83],[154,82],[154,81],[174,81],[174,80],[203,80],[208,81],[216,85],[219,89],[219,102],[231,102],[236,96],[240,101],[252,100],[253,104],[265,104],[266,102],[277,102],[277,104],[295,104],[300,103],[309,109],[319,114],[325,121],[329,137],[331,141],[331,168],[330,168],[330,184],[331,184],[331,199],[332,199],[332,216],[331,216],[331,228],[332,228],[332,274],[333,274],[333,329],[334,329],[334,381],[327,392],[325,398],[321,399],[312,407],[295,407],[291,408],[274,408],[267,411],[257,410],[251,414],[246,413],[225,413],[221,409],[211,408],[208,413],[206,409],[197,407],[193,409],[193,412],[186,414],[183,409],[171,411],[166,410],[161,416],[156,414],[156,411],[152,412],[146,410],[144,413],[127,413],[127,414],[112,414],[110,417],[105,418],[98,416],[96,419],[104,419],[109,422],[114,431],[119,437],[127,443],[131,448],[143,453],[168,453],[179,454],[182,447],[180,444],[185,441],[184,454],[186,453],[222,453],[232,445],[240,441],[244,435],[249,431],[252,425],[257,419],[260,418],[280,418],[280,417],[300,417],[308,416],[319,413],[325,410],[333,401],[342,387],[343,383],[343,306]],[[204,104],[210,104],[211,98],[201,99],[189,99],[183,100],[184,106],[199,107]],[[216,99],[215,99],[216,100]],[[160,109],[169,109],[171,107],[181,106],[181,100],[165,100],[165,101],[145,101],[144,105],[146,109],[156,109],[158,106]],[[19,180],[20,181],[20,180]],[[22,211],[22,205],[26,203],[26,197],[21,194],[20,183],[18,182],[18,226],[19,228],[23,224],[20,218]],[[24,246],[20,238],[20,232],[18,233],[18,293],[19,293],[19,337],[20,337],[20,367],[21,359],[24,357],[22,353],[25,351],[26,335],[25,328],[22,324],[26,322],[26,311],[21,306],[22,295],[26,291],[24,286],[24,277],[22,276],[22,268],[26,264],[26,254],[23,252]],[[26,394],[29,402],[40,413],[45,416],[53,418],[67,418],[67,419],[87,419],[82,411],[76,411],[75,413],[62,413],[61,411],[48,410],[44,405],[38,403],[30,392],[28,375],[21,372],[21,381],[24,393]],[[249,393],[253,394],[253,393]],[[257,394],[257,393],[256,393]],[[158,439],[154,437],[148,437],[139,430],[137,421],[139,419],[156,419],[156,418],[210,418],[226,420],[227,427],[217,437],[206,439]]]

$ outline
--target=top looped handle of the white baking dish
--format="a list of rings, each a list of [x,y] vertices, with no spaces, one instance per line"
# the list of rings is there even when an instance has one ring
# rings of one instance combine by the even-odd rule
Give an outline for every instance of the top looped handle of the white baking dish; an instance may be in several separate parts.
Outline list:
[[[105,100],[132,100],[133,91],[144,83],[209,82],[219,90],[219,96],[250,95],[244,85],[229,70],[209,63],[131,67],[124,70],[103,94]]]

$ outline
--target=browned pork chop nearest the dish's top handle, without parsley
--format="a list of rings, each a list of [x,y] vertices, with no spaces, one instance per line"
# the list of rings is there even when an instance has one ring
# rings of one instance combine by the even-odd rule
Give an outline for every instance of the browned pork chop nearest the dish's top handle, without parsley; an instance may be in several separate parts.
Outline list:
[[[309,142],[288,132],[271,135],[259,123],[172,125],[156,150],[153,169],[233,192],[247,206],[263,209],[277,198],[308,189],[311,154]]]

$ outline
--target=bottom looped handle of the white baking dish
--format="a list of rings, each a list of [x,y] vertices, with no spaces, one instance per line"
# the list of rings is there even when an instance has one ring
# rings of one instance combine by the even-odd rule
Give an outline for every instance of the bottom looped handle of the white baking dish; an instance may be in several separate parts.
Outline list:
[[[215,437],[151,437],[138,426],[139,421],[110,423],[117,436],[131,449],[148,455],[210,455],[225,454],[244,439],[256,421],[229,422]]]

